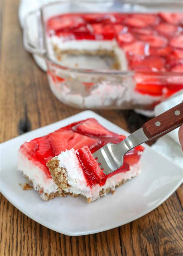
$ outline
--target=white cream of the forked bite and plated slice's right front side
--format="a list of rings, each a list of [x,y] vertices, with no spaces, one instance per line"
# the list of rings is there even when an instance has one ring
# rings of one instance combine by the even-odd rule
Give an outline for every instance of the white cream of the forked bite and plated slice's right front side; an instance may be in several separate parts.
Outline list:
[[[115,186],[119,185],[122,180],[130,180],[140,173],[140,163],[137,163],[130,166],[129,171],[117,173],[108,178],[103,186],[96,184],[95,186],[90,187],[86,181],[74,149],[61,152],[57,158],[59,160],[59,167],[64,168],[67,173],[69,187],[64,189],[64,191],[83,195],[86,198],[90,198],[91,201],[100,198],[100,192],[102,192],[102,190],[105,192],[105,190],[110,188],[111,191],[114,191]]]

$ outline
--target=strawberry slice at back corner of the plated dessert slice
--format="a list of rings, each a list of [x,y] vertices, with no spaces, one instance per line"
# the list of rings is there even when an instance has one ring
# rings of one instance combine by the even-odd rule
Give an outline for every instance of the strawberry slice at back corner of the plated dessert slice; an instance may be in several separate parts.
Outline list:
[[[76,132],[79,132],[81,134],[92,135],[92,136],[101,136],[101,137],[119,136],[114,132],[108,131],[101,124],[99,124],[96,119],[93,119],[93,118],[87,119],[84,122],[80,123],[79,125],[74,126],[73,129]]]

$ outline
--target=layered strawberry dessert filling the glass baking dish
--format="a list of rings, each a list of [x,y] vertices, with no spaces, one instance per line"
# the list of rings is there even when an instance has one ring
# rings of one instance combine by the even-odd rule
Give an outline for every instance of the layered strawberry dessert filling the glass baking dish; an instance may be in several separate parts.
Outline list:
[[[63,102],[87,108],[148,105],[153,109],[183,88],[181,13],[61,14],[47,20],[47,40],[58,63],[62,64],[65,54],[111,56],[112,69],[135,72],[98,81],[82,75],[80,83],[76,75],[69,82],[63,70],[49,70],[51,90]],[[174,76],[165,76],[166,72]]]

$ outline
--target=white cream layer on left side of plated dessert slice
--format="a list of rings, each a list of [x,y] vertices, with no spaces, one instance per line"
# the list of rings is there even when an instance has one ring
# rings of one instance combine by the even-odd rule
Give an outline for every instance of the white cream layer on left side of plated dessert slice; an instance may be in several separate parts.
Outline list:
[[[40,168],[40,164],[36,164],[29,160],[28,157],[21,151],[18,152],[18,170],[32,181],[34,189],[44,194],[56,193],[59,191],[57,185],[52,178],[48,178],[46,173]]]

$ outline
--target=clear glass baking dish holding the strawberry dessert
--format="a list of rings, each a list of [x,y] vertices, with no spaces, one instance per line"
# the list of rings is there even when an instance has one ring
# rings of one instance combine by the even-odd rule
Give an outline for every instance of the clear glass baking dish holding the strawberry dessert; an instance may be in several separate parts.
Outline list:
[[[182,72],[112,70],[108,64],[111,59],[107,56],[64,55],[63,64],[53,55],[47,21],[56,15],[101,14],[101,10],[102,13],[133,14],[179,12],[181,8],[181,1],[153,4],[141,1],[53,2],[26,15],[24,47],[45,59],[51,91],[65,104],[84,109],[153,110],[156,104],[183,89]],[[179,32],[182,33],[182,27]],[[76,59],[79,64],[66,64],[75,63]],[[180,63],[183,64],[183,60]]]

